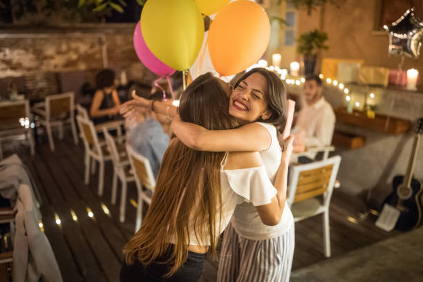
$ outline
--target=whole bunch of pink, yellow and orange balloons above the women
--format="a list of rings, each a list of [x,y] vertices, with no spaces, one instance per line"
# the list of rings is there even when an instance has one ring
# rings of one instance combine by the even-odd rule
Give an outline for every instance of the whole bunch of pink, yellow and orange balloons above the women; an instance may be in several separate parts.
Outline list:
[[[160,78],[175,71],[189,70],[193,79],[207,71],[220,77],[244,71],[265,53],[270,22],[254,1],[228,2],[148,0],[133,34],[139,59]],[[205,32],[203,15],[214,14]]]

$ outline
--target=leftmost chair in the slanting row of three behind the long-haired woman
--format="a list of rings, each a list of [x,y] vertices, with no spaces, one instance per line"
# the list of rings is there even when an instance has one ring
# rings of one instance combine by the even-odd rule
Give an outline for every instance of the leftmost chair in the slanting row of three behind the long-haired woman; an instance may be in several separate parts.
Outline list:
[[[86,120],[80,115],[77,115],[77,123],[79,131],[81,132],[82,140],[85,147],[85,184],[90,182],[90,162],[99,162],[98,172],[98,195],[103,196],[104,189],[104,163],[112,160],[111,154],[106,149],[106,144],[100,144],[97,133],[95,132],[94,124],[91,120]]]

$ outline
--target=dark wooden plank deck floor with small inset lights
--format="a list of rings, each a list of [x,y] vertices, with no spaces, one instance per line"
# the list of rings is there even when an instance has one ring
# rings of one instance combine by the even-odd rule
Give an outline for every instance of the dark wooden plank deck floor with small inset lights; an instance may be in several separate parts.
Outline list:
[[[106,164],[104,196],[97,196],[97,173],[90,185],[84,185],[84,149],[76,146],[70,135],[55,139],[56,151],[48,148],[46,136],[40,136],[34,157],[22,145],[13,150],[3,146],[5,157],[17,152],[29,167],[42,198],[44,229],[53,247],[64,281],[118,281],[122,247],[129,241],[135,225],[135,185],[129,184],[126,222],[120,223],[118,205],[111,205],[113,168]],[[118,190],[118,195],[120,190]],[[118,201],[119,203],[119,198]],[[133,202],[133,200],[132,200]],[[397,232],[377,229],[375,218],[360,219],[359,200],[336,189],[330,205],[332,257],[371,245]],[[104,211],[109,209],[109,214]],[[88,216],[91,209],[93,217]],[[60,218],[60,225],[56,218]],[[322,220],[315,216],[295,226],[293,270],[324,260]],[[209,264],[214,265],[215,263]],[[205,280],[214,281],[212,267]]]

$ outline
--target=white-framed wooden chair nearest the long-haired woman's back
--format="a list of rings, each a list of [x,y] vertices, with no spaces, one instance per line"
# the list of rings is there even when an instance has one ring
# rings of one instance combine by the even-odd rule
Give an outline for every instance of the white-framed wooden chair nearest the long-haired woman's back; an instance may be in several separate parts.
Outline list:
[[[141,227],[142,221],[142,201],[144,200],[147,204],[151,204],[151,194],[156,188],[156,178],[153,176],[150,162],[144,156],[133,151],[130,145],[126,145],[126,151],[128,152],[129,162],[131,162],[131,169],[135,176],[135,185],[137,186],[138,192],[138,205],[137,205],[137,217],[135,220],[135,233]],[[149,189],[150,191],[144,191],[142,187]],[[123,197],[122,197],[123,198]],[[125,195],[126,203],[126,195]],[[121,207],[122,208],[122,207]]]

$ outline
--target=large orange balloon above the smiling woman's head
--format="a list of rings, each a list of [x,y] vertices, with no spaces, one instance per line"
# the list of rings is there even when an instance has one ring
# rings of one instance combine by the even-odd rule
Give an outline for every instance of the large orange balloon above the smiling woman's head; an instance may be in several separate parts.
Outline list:
[[[270,40],[270,22],[257,3],[239,0],[216,15],[209,30],[209,53],[220,75],[244,71],[263,56]]]

